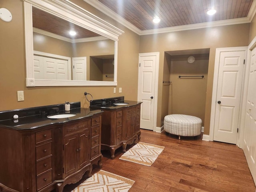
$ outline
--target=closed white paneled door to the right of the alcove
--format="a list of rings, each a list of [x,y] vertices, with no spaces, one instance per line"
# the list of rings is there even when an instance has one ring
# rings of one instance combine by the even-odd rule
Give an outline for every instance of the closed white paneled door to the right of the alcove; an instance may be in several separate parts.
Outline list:
[[[245,51],[220,52],[213,140],[236,144]]]

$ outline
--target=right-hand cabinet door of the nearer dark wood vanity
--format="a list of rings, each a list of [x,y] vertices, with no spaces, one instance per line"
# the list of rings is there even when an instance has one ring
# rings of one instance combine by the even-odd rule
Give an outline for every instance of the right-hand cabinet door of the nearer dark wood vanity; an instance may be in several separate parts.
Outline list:
[[[89,130],[79,134],[78,140],[78,169],[89,163],[90,138]]]

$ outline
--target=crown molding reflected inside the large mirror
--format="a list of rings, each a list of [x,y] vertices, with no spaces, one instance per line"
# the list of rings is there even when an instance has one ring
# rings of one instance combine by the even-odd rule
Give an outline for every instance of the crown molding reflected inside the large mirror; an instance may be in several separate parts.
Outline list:
[[[70,43],[81,43],[81,42],[90,42],[90,41],[98,41],[98,40],[108,40],[108,38],[104,37],[104,36],[97,36],[97,37],[88,37],[88,38],[80,38],[80,39],[70,39],[70,38],[66,38],[54,33],[50,33],[48,31],[44,31],[38,28],[34,28],[33,27],[33,32],[42,34],[42,35],[46,35],[52,38],[56,38],[62,41],[66,41],[66,42],[70,42]]]

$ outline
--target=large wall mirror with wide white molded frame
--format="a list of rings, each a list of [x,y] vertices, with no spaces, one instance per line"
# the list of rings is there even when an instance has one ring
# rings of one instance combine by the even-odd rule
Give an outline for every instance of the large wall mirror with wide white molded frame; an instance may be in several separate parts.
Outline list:
[[[24,0],[24,19],[27,86],[117,85],[121,30],[68,0]]]

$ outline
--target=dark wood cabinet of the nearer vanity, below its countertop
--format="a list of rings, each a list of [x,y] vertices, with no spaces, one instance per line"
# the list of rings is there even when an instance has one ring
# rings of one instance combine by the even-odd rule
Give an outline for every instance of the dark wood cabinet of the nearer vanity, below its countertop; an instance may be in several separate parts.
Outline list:
[[[27,130],[0,127],[0,191],[62,192],[102,166],[101,113]],[[4,148],[6,146],[6,148]]]

